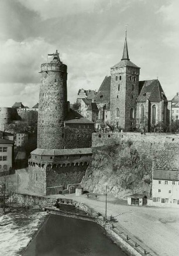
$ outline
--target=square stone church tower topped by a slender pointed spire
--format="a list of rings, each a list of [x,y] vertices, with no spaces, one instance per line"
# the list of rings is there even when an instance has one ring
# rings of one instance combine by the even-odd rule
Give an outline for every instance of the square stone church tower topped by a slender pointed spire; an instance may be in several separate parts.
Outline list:
[[[136,127],[139,73],[140,68],[130,62],[125,38],[122,59],[111,68],[111,122],[125,130]]]

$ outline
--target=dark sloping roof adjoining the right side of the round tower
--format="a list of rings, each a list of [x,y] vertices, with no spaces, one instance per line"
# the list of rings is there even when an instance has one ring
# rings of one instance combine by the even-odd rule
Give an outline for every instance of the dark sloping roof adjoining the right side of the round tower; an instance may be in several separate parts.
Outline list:
[[[89,123],[94,124],[93,122],[89,121],[87,118],[81,116],[80,113],[75,112],[75,110],[70,109],[70,111],[67,113],[66,119],[64,123]]]

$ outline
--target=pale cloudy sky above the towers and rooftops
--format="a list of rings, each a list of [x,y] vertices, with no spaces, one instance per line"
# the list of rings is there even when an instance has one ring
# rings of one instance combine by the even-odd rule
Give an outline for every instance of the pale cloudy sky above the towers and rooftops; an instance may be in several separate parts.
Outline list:
[[[178,0],[0,0],[0,106],[39,101],[40,64],[58,49],[68,66],[68,100],[99,89],[122,58],[140,80],[159,77],[168,100],[178,91]]]

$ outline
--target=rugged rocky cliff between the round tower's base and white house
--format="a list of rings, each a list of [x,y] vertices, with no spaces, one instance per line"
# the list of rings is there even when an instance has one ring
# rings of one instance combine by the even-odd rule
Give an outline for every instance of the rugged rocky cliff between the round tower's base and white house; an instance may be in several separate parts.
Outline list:
[[[82,178],[84,190],[125,198],[129,194],[146,191],[150,197],[152,187],[153,156],[160,154],[166,144],[111,140],[111,143],[92,148],[91,164]]]

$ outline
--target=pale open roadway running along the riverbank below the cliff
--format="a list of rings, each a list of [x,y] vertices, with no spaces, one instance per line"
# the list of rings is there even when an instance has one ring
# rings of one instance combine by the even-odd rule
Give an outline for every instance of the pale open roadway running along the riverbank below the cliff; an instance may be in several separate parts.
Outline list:
[[[51,195],[48,198],[69,198],[86,204],[105,216],[105,196],[94,194]],[[132,240],[155,256],[179,255],[179,214],[178,208],[128,206],[125,200],[107,197],[107,217],[113,216],[118,230],[128,234]]]

